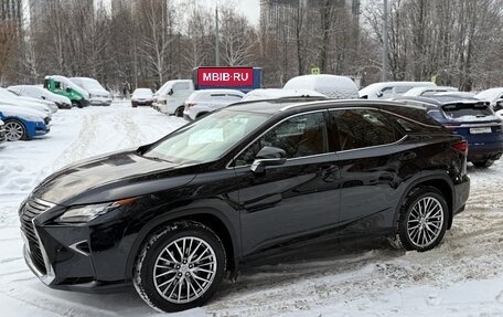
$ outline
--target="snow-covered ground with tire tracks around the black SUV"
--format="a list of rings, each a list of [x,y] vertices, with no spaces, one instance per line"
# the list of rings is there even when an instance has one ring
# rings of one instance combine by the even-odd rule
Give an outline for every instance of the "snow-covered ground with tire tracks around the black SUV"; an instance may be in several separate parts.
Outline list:
[[[153,141],[183,124],[115,103],[60,110],[44,139],[0,145],[1,316],[158,315],[132,288],[92,295],[44,286],[22,258],[18,207],[64,165]],[[467,210],[430,252],[381,241],[333,244],[244,268],[205,307],[170,316],[503,316],[503,162],[469,172]]]

